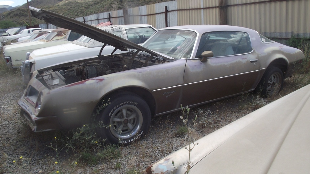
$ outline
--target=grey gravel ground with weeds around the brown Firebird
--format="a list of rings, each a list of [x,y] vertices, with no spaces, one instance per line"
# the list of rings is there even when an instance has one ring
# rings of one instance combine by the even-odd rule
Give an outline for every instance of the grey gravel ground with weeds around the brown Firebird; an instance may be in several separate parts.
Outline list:
[[[10,81],[2,78],[0,82],[0,89],[12,86]],[[188,125],[194,131],[182,136],[176,136],[178,127],[183,125],[180,119],[182,112],[156,117],[144,138],[120,147],[121,158],[93,166],[78,163],[73,169],[69,165],[74,162],[72,155],[60,153],[59,164],[55,165],[55,150],[47,147],[59,132],[33,133],[19,116],[20,108],[17,102],[23,90],[24,86],[14,92],[0,94],[0,173],[3,174],[55,173],[59,170],[57,166],[61,166],[62,171],[69,171],[64,173],[141,173],[151,163],[188,145],[193,138],[203,137],[271,102],[270,99],[245,94],[191,108]],[[196,115],[198,124],[194,128],[192,120]],[[23,156],[23,161],[20,156]],[[16,162],[13,163],[13,160]],[[117,163],[121,165],[117,167]]]

